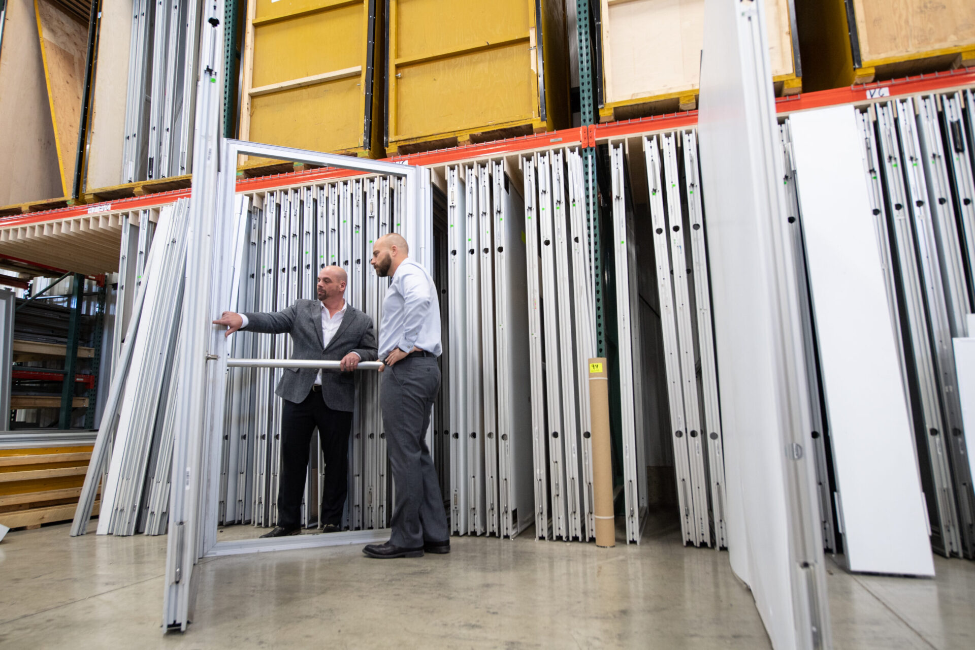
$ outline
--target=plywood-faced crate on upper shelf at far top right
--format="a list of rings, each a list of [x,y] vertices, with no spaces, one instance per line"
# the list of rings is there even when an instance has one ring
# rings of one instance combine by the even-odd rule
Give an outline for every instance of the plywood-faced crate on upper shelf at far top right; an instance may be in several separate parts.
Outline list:
[[[972,0],[821,0],[797,19],[807,90],[975,65]]]

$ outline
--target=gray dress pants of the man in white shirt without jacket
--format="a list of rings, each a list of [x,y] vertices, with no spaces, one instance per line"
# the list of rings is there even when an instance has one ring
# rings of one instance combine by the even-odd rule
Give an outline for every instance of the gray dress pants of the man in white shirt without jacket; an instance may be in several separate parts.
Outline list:
[[[405,549],[449,538],[440,482],[426,444],[439,390],[440,367],[433,357],[407,357],[382,373],[382,422],[396,491],[389,541]]]

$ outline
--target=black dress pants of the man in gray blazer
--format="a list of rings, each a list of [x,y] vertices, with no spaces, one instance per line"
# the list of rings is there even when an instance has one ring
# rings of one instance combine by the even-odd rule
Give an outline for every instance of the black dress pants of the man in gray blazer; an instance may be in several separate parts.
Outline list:
[[[301,525],[301,499],[308,476],[311,435],[318,427],[325,457],[325,484],[322,490],[321,524],[341,524],[342,508],[348,491],[349,432],[352,411],[336,411],[312,391],[305,401],[285,400],[281,414],[281,485],[278,494],[278,525]]]

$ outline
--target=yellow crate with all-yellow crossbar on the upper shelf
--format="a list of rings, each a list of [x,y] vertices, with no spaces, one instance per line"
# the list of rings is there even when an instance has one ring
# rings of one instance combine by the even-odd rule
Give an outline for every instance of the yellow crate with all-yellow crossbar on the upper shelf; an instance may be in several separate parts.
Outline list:
[[[388,153],[569,126],[564,0],[388,6]]]

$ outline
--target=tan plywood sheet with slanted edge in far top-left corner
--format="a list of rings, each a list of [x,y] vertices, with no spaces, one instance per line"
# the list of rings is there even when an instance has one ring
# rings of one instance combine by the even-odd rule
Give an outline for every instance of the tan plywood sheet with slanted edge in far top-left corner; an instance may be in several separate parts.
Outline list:
[[[33,0],[7,0],[0,89],[0,142],[8,152],[0,156],[0,205],[60,196],[58,149]]]

